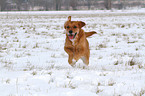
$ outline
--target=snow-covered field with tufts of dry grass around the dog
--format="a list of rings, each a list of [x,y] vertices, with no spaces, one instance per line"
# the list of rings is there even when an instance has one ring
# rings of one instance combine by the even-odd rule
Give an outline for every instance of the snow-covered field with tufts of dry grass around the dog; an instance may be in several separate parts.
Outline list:
[[[98,32],[88,67],[67,62],[69,15]],[[0,96],[145,96],[145,12],[0,13]]]

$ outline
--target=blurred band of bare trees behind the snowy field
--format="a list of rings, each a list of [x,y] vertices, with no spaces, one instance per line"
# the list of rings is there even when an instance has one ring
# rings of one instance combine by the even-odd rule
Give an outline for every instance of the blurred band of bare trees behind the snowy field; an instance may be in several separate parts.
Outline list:
[[[145,0],[0,0],[1,11],[96,10],[145,7]]]

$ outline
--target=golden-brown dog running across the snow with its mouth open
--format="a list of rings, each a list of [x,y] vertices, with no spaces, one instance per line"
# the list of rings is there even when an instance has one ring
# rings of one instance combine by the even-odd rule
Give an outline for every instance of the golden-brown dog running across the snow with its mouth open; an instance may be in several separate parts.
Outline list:
[[[82,59],[86,65],[89,64],[90,49],[86,37],[96,32],[84,32],[81,28],[85,25],[82,21],[71,21],[71,16],[64,24],[66,32],[64,50],[69,55],[68,62],[71,66],[74,66],[79,59]]]

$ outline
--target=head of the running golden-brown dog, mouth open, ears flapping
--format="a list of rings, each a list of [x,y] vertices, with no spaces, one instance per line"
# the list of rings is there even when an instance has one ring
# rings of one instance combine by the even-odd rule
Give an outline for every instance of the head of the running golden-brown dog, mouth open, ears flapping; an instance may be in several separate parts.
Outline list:
[[[64,28],[68,38],[70,40],[75,39],[75,37],[80,32],[80,29],[86,24],[82,21],[71,21],[71,16],[68,17],[68,20],[64,24]]]

